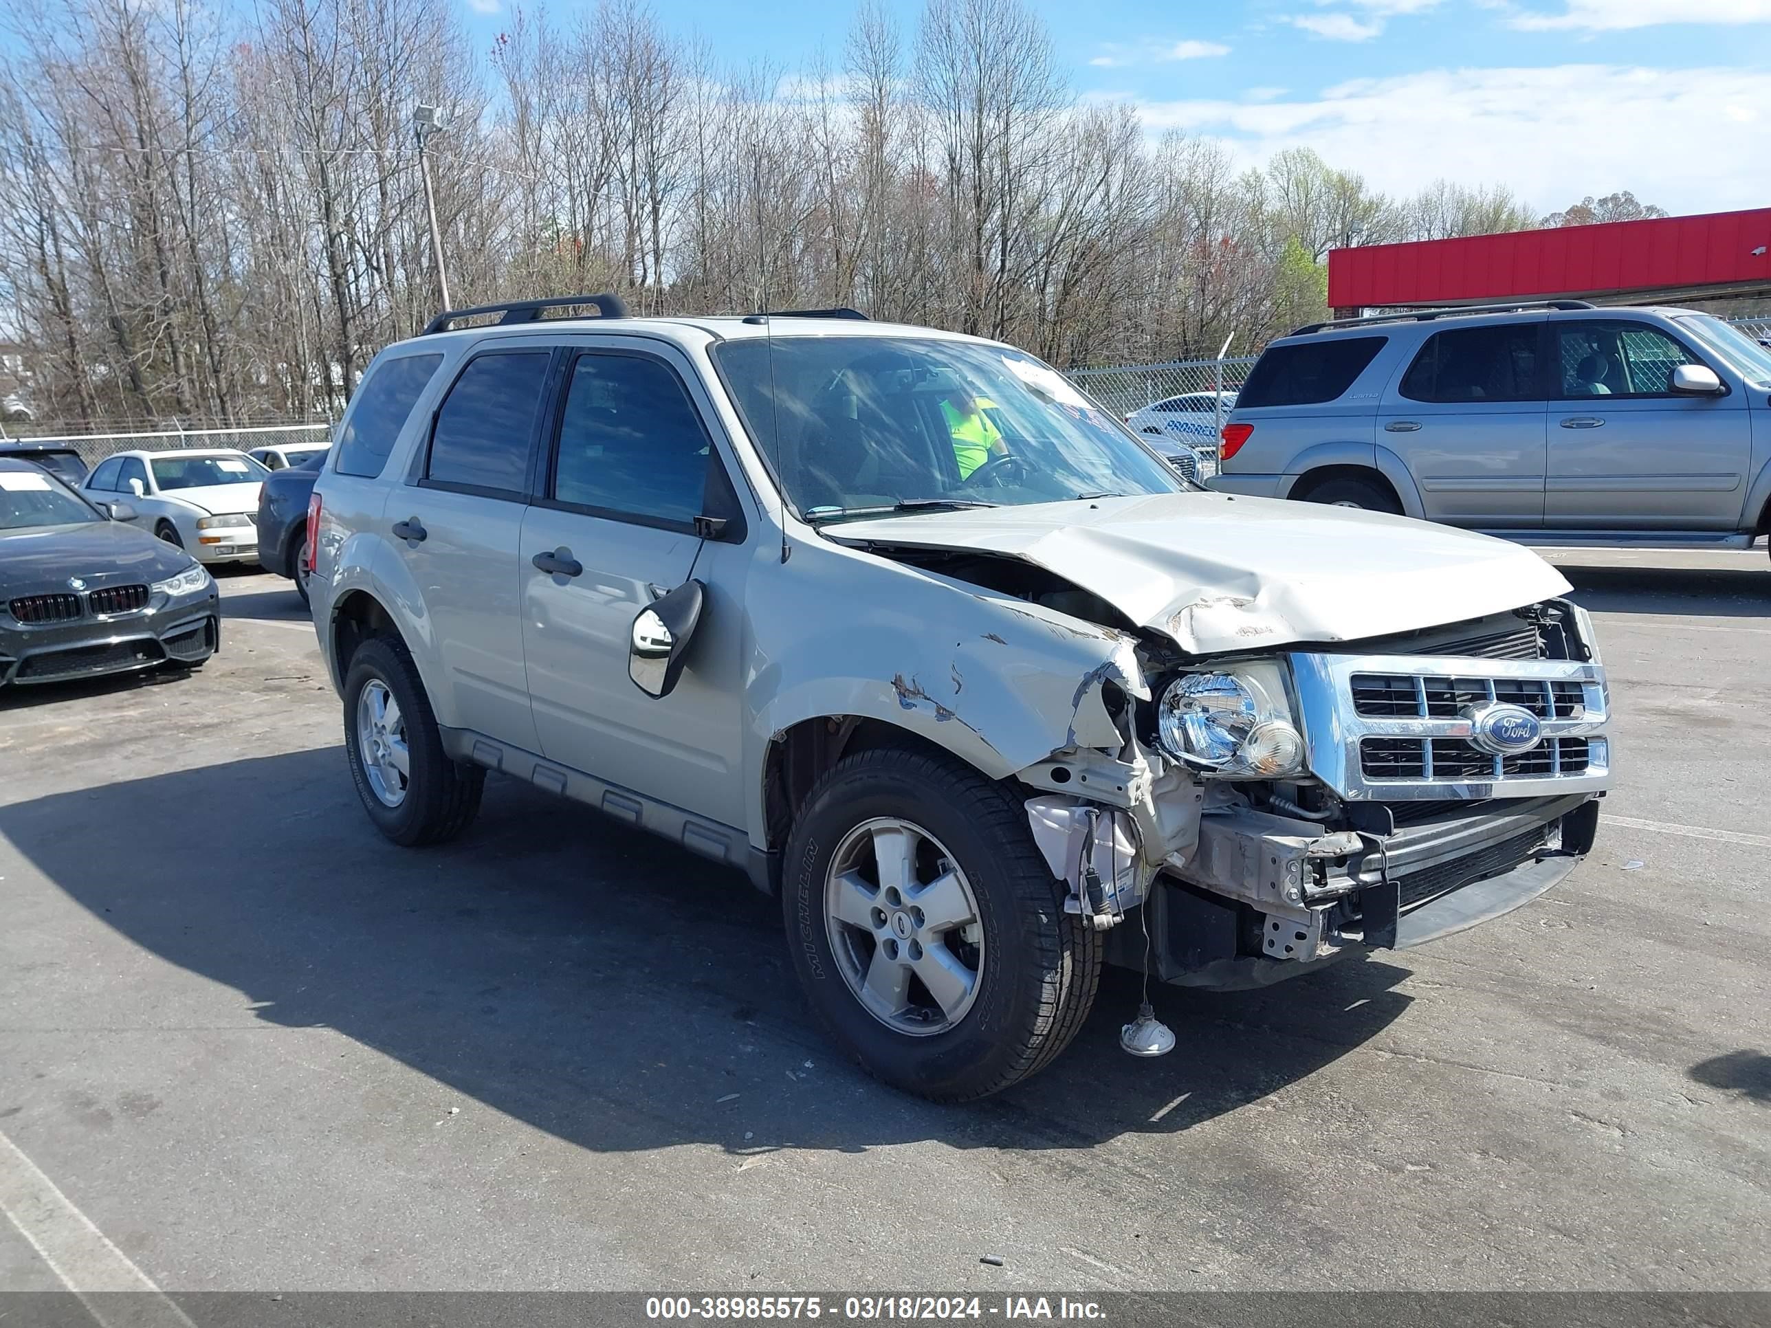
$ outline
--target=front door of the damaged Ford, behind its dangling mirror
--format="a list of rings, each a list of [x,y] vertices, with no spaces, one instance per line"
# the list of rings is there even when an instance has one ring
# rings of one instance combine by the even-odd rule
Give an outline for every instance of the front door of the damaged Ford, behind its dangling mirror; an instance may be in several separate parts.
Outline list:
[[[528,691],[551,761],[724,825],[744,823],[740,613],[703,544],[710,476],[724,475],[689,384],[664,354],[568,351],[553,460],[522,526],[517,563]],[[710,413],[708,413],[708,418]],[[677,689],[629,678],[634,616],[691,575],[708,583]],[[717,622],[717,618],[728,622]]]

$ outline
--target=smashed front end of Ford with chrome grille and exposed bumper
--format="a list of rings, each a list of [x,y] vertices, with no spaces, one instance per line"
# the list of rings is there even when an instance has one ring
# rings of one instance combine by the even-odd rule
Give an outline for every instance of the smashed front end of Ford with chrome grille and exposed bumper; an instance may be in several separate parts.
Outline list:
[[[1112,961],[1261,986],[1498,917],[1592,848],[1610,699],[1567,600],[1240,657],[1146,634],[1133,653],[1135,673],[1084,680],[1070,745],[1017,772]]]

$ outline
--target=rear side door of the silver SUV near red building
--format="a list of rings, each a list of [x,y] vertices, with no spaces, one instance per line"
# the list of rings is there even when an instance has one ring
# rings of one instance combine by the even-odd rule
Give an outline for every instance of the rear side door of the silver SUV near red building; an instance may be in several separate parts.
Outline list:
[[[1433,333],[1385,393],[1378,446],[1401,457],[1427,521],[1543,524],[1543,326],[1537,315]]]

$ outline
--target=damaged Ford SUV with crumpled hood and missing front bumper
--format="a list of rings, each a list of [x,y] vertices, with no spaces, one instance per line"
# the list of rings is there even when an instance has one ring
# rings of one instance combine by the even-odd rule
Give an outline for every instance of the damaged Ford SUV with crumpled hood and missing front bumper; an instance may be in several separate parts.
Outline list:
[[[496,770],[747,873],[831,1036],[935,1100],[1052,1061],[1103,963],[1259,986],[1518,908],[1610,776],[1535,554],[1204,492],[1022,351],[850,310],[443,313],[308,535],[390,839]]]

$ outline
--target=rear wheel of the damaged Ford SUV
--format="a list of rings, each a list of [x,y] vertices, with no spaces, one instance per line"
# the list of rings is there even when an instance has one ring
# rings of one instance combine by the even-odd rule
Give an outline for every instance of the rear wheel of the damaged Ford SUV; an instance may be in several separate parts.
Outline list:
[[[406,646],[374,637],[351,655],[344,749],[363,811],[397,845],[453,839],[480,811],[485,770],[443,751]]]

